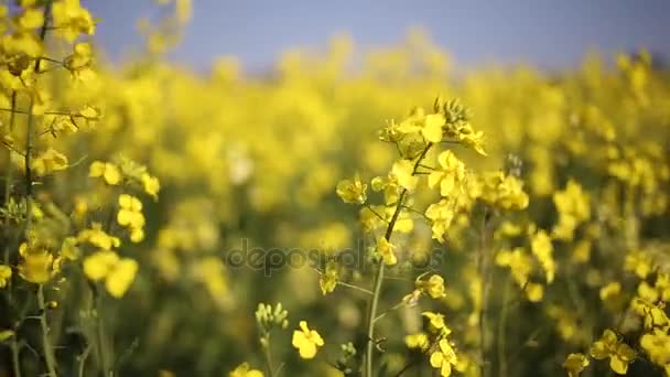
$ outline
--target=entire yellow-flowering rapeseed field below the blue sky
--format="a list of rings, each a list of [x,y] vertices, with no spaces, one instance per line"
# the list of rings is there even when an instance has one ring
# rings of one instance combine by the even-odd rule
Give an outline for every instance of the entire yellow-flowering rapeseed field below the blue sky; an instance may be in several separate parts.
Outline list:
[[[78,0],[19,3],[0,375],[670,376],[670,78],[646,52],[456,74],[411,32],[359,65],[336,37],[202,74],[162,55],[177,0],[115,67]]]

